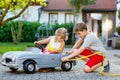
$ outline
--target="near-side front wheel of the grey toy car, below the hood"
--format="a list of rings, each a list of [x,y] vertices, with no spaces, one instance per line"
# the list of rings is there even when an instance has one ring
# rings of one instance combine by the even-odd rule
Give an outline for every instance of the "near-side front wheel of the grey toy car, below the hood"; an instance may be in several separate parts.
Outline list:
[[[33,61],[26,61],[23,64],[23,69],[28,74],[34,73],[35,69],[36,69],[35,62],[33,62]]]

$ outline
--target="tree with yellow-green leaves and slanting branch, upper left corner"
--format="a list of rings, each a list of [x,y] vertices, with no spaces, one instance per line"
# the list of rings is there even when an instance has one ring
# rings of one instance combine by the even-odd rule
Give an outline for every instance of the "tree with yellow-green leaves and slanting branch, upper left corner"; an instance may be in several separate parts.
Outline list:
[[[0,0],[0,27],[2,27],[8,21],[14,20],[28,8],[31,4],[39,4],[41,6],[46,6],[46,2],[43,0]],[[5,19],[7,13],[16,11],[15,16]],[[19,11],[18,11],[19,10]]]

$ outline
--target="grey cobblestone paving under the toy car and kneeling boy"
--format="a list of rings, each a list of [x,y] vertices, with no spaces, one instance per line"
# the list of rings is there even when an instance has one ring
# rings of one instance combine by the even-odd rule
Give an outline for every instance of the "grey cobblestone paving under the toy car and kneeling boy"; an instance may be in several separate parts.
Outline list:
[[[37,51],[36,48],[27,49]],[[120,50],[107,50],[106,56],[110,60],[110,73],[120,73]],[[17,72],[11,72],[8,68],[0,65],[0,80],[120,80],[119,76],[102,76],[98,73],[100,68],[92,73],[84,73],[82,68],[83,61],[78,61],[77,65],[69,72],[61,71],[56,68],[55,71],[47,73],[37,71],[34,74],[25,74],[22,69]]]

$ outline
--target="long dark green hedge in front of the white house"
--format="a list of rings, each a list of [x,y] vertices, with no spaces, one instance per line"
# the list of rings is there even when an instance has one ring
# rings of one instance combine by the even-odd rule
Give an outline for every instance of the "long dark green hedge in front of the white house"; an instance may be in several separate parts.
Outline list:
[[[22,24],[22,30],[20,30],[19,32],[19,22]],[[13,24],[14,26],[14,31],[18,32],[17,34],[14,34],[14,36],[12,36],[12,32],[11,32],[11,24]],[[64,27],[68,30],[68,40],[66,41],[66,44],[71,44],[72,43],[72,30],[73,30],[73,23],[65,23],[65,24],[54,24],[54,25],[50,25],[50,24],[40,24],[39,22],[29,22],[29,21],[10,21],[9,23],[7,23],[6,25],[4,25],[2,28],[0,28],[0,42],[12,42],[13,39],[16,39],[18,36],[18,41],[21,40],[21,42],[34,42],[35,40],[37,40],[37,37],[35,36],[37,33],[37,29],[38,27],[41,27],[41,25],[47,25],[47,28],[49,26],[52,27],[52,35],[54,35],[56,29],[60,28],[60,27]],[[17,29],[16,29],[17,28]],[[46,31],[43,31],[43,33],[39,32],[39,35],[41,36],[43,34],[43,36],[46,36]],[[48,33],[49,34],[49,33]],[[50,35],[50,34],[49,34]],[[15,38],[16,36],[16,38]],[[48,35],[47,35],[48,36]],[[13,38],[14,37],[14,38]]]

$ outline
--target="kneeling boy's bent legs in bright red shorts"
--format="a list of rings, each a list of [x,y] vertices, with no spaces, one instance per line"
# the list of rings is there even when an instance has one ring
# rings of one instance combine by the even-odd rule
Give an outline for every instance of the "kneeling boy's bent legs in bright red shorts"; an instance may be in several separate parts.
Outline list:
[[[85,51],[83,51],[83,53],[82,53],[83,56],[88,56],[91,54],[94,54],[94,53],[87,49]],[[95,69],[97,69],[98,67],[102,66],[103,59],[104,59],[104,57],[102,55],[98,55],[98,54],[95,54],[95,55],[89,57],[84,66],[84,71],[92,72]]]

